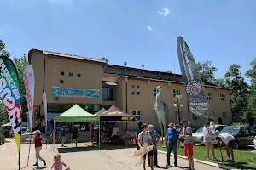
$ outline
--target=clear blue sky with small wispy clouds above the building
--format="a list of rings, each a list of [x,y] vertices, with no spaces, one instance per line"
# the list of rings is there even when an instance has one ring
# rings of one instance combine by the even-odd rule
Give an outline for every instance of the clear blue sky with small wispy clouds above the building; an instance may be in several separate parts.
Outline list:
[[[13,57],[32,48],[180,73],[177,37],[215,77],[244,74],[256,56],[255,0],[0,0],[0,39]],[[247,79],[247,82],[249,80]]]

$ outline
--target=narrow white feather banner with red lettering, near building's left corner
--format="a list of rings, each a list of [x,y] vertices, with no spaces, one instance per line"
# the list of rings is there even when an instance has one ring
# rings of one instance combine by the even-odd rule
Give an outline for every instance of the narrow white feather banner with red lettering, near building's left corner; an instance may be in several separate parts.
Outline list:
[[[30,131],[32,131],[33,111],[34,111],[34,93],[35,93],[35,76],[32,65],[26,65],[23,71],[23,82],[26,89],[27,110],[30,122]]]

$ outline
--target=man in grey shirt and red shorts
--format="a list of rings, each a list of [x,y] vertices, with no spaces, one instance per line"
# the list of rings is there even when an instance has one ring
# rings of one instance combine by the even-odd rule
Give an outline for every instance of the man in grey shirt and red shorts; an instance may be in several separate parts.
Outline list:
[[[185,168],[187,170],[195,170],[194,169],[194,160],[193,160],[193,140],[192,140],[192,128],[188,127],[188,122],[186,120],[182,121],[183,129],[182,134],[179,138],[183,138],[184,140],[184,152],[185,156],[188,157],[189,167]]]

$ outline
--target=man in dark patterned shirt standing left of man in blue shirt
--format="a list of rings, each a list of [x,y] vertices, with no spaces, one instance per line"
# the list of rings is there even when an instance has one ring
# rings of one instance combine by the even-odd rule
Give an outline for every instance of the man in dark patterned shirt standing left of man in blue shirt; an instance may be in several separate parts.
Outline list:
[[[157,143],[160,139],[160,134],[154,130],[153,125],[148,125],[149,135],[151,138],[152,143],[154,144],[153,156],[154,156],[154,167],[159,167],[157,163]],[[148,155],[148,167],[150,166],[150,159]]]

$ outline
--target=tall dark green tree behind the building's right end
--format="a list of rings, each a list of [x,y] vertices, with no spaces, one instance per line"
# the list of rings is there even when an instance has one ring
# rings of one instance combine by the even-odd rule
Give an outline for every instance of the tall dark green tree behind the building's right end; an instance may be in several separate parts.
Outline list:
[[[233,119],[243,116],[248,104],[247,94],[249,86],[244,78],[241,77],[240,69],[239,65],[230,65],[230,69],[224,75],[228,88],[232,89],[230,100]]]

